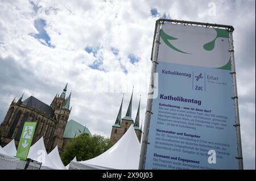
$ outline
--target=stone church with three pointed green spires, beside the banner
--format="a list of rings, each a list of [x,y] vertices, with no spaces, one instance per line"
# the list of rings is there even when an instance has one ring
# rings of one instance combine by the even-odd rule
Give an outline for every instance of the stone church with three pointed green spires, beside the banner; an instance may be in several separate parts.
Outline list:
[[[110,140],[113,141],[114,143],[117,142],[123,134],[127,131],[127,129],[130,127],[130,125],[134,125],[135,133],[138,137],[139,142],[141,142],[141,136],[142,136],[142,129],[139,128],[139,108],[141,105],[141,99],[139,99],[139,106],[138,106],[138,111],[137,115],[135,118],[135,123],[133,119],[131,118],[131,108],[133,104],[133,92],[131,93],[131,99],[130,103],[126,112],[125,117],[121,119],[121,114],[122,114],[122,105],[123,105],[123,98],[121,102],[121,106],[117,115],[117,119],[115,120],[115,124],[112,126],[112,132],[110,135]]]

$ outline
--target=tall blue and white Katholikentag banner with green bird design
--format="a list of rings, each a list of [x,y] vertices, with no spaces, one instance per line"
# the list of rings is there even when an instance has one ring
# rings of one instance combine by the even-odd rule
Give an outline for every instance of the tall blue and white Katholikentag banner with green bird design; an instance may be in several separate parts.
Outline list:
[[[164,23],[144,169],[239,169],[229,31]]]

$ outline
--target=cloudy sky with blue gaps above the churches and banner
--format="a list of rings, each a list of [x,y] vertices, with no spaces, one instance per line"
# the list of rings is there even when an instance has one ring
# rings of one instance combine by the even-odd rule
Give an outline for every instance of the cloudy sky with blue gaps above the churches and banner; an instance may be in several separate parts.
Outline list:
[[[68,82],[69,118],[106,137],[133,86],[133,118],[141,95],[144,120],[155,20],[234,26],[244,166],[255,169],[254,0],[0,0],[0,7],[0,122],[23,92],[50,104]]]

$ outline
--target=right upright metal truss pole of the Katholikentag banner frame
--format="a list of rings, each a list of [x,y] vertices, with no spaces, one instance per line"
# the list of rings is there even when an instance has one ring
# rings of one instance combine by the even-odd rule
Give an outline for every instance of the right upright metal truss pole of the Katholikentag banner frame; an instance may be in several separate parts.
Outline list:
[[[237,152],[238,152],[238,163],[239,169],[243,170],[243,157],[242,157],[242,141],[241,141],[241,132],[240,132],[240,120],[239,120],[239,111],[238,111],[238,96],[237,96],[237,78],[236,78],[236,68],[234,64],[234,44],[233,44],[233,34],[229,32],[229,39],[230,39],[230,58],[231,58],[231,65],[232,65],[232,78],[233,78],[233,90],[234,90],[234,109],[236,114],[236,124],[234,125],[237,130]]]

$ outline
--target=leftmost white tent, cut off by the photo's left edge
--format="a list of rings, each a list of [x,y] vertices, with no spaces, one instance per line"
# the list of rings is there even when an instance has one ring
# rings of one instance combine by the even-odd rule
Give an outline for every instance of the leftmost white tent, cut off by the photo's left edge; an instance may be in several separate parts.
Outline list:
[[[14,170],[19,163],[19,158],[6,153],[0,146],[0,170]]]

